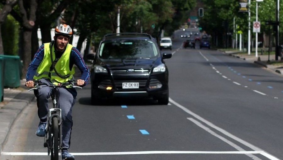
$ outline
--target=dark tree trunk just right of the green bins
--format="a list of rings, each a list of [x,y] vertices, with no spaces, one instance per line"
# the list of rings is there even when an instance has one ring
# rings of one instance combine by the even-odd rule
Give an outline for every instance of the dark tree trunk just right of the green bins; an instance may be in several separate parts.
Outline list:
[[[29,64],[31,62],[31,30],[24,29],[23,35],[24,35],[24,41],[23,46],[24,52],[23,52],[23,68],[22,68],[22,79],[25,79],[27,68],[29,67]]]

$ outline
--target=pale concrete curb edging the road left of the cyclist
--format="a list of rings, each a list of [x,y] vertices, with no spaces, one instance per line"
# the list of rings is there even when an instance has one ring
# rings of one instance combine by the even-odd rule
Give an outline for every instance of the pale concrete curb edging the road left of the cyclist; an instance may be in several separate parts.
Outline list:
[[[33,92],[28,90],[18,93],[14,99],[8,102],[0,110],[0,154],[5,144],[10,128],[13,126],[14,121],[18,115],[25,109],[31,101],[35,99]]]

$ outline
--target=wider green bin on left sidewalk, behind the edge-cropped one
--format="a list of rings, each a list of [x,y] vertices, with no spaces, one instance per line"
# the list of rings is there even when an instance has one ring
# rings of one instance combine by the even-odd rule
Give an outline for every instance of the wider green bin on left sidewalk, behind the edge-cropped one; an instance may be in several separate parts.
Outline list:
[[[19,56],[0,55],[4,59],[4,87],[17,88],[20,86],[21,64]]]

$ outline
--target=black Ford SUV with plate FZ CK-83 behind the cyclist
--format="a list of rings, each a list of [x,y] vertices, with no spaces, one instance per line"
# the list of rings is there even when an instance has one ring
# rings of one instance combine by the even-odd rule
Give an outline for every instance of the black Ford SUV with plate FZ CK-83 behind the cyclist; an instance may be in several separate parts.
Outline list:
[[[145,33],[104,35],[91,69],[91,102],[115,97],[152,97],[168,104],[168,69],[156,40]]]

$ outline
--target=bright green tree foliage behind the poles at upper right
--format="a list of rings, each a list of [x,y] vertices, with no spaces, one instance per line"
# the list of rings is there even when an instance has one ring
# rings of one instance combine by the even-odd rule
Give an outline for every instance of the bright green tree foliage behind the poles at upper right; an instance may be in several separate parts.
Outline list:
[[[200,19],[200,25],[208,33],[216,34],[218,37],[225,37],[228,32],[233,33],[233,20],[239,26],[236,31],[241,30],[243,32],[244,39],[247,39],[247,33],[249,29],[248,25],[248,12],[239,11],[238,0],[203,0],[205,16]],[[250,30],[252,33],[252,23],[256,21],[256,1],[251,0],[251,5],[247,6],[250,8],[251,13],[251,25]],[[280,3],[280,8],[283,7],[283,3]],[[261,33],[268,33],[270,25],[266,25],[265,22],[268,20],[275,21],[276,11],[276,0],[264,0],[264,2],[258,2],[258,21],[261,22]],[[279,15],[282,15],[283,11],[280,10]],[[280,16],[279,21],[281,22],[283,17]],[[280,34],[283,33],[283,28],[280,28]],[[235,36],[235,35],[232,35]]]

